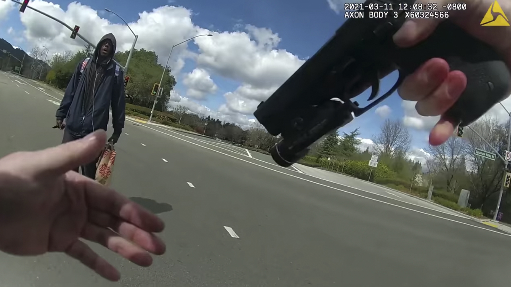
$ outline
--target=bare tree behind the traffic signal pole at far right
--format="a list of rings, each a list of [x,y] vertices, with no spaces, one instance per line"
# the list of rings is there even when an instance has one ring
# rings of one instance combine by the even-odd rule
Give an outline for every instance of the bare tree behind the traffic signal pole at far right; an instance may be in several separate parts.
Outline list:
[[[505,149],[506,129],[495,118],[485,116],[470,127],[496,150]],[[479,208],[488,197],[499,191],[503,177],[502,162],[499,159],[494,161],[474,155],[476,148],[489,151],[492,149],[472,130],[465,130],[463,137],[467,140],[466,153],[472,171],[469,173],[472,205]]]

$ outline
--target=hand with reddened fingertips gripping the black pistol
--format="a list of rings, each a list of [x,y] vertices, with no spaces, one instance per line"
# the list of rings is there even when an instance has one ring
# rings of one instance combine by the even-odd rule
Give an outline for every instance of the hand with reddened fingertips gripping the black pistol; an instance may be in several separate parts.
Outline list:
[[[480,40],[491,44],[507,60],[511,69],[511,27],[482,27],[480,22],[495,0],[467,1],[467,10],[449,11],[449,20]],[[438,9],[450,0],[419,0],[436,3]],[[511,16],[511,1],[498,1],[507,17]],[[394,42],[402,47],[412,46],[426,39],[443,19],[408,19],[394,35]],[[398,89],[403,100],[416,101],[415,109],[423,116],[443,115],[459,98],[467,86],[467,77],[461,71],[451,71],[443,59],[434,58],[408,76]],[[455,124],[443,116],[431,130],[429,143],[444,143],[453,134]]]

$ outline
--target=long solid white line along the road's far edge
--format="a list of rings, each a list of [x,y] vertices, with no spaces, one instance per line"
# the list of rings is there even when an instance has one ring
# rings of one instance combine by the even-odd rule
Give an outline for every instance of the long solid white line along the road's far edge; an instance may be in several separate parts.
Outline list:
[[[128,121],[130,121],[130,122],[132,122],[132,123],[136,123],[135,121],[131,121],[131,119],[128,119],[128,118],[127,118],[127,120],[128,120]],[[430,217],[434,217],[434,218],[438,218],[438,219],[443,219],[443,220],[447,220],[447,221],[450,221],[450,222],[454,222],[454,223],[458,223],[458,224],[462,224],[462,225],[466,225],[466,226],[471,226],[471,227],[474,227],[474,228],[477,228],[477,229],[482,229],[482,230],[490,231],[490,232],[497,233],[497,234],[500,234],[500,235],[510,236],[510,237],[511,237],[511,234],[506,234],[506,233],[503,233],[503,232],[495,231],[495,230],[492,230],[492,229],[487,229],[487,228],[480,227],[480,226],[477,226],[477,225],[472,225],[472,224],[464,223],[464,222],[461,222],[461,221],[453,220],[453,219],[450,219],[450,218],[445,218],[445,217],[437,216],[437,215],[435,215],[435,214],[431,214],[431,213],[427,213],[427,212],[424,212],[424,211],[420,211],[420,210],[416,210],[416,209],[408,208],[408,207],[401,206],[401,205],[397,205],[397,204],[393,204],[393,203],[390,203],[390,202],[385,202],[385,201],[382,201],[382,200],[379,200],[379,199],[376,199],[376,198],[366,197],[366,196],[359,195],[359,194],[356,194],[356,193],[352,193],[352,192],[349,192],[349,191],[347,191],[347,190],[343,190],[343,189],[340,189],[340,188],[337,188],[337,187],[329,186],[329,185],[322,184],[322,183],[319,183],[319,182],[315,182],[315,181],[312,181],[312,180],[309,180],[309,179],[305,179],[305,178],[302,178],[302,177],[299,177],[299,176],[295,176],[295,175],[288,174],[288,173],[285,173],[285,172],[277,171],[277,170],[274,170],[274,169],[268,168],[267,166],[264,166],[264,165],[261,165],[261,164],[257,164],[257,163],[255,163],[255,162],[251,162],[251,161],[248,161],[248,160],[245,160],[245,159],[239,158],[239,157],[235,157],[235,156],[233,156],[233,155],[226,154],[226,153],[223,153],[223,152],[220,152],[220,151],[214,150],[214,149],[212,149],[212,148],[208,148],[208,147],[201,146],[201,145],[199,145],[198,143],[195,143],[195,142],[192,142],[192,141],[189,141],[189,140],[186,140],[186,139],[182,139],[182,138],[177,137],[177,136],[175,136],[175,135],[171,135],[171,134],[168,134],[168,133],[165,133],[165,132],[162,132],[162,131],[159,131],[159,130],[153,129],[153,128],[148,127],[148,126],[145,126],[145,125],[140,125],[140,126],[143,126],[143,127],[148,128],[148,129],[151,129],[151,130],[153,130],[153,131],[157,131],[157,132],[159,132],[159,133],[162,133],[162,134],[165,134],[165,135],[168,135],[168,136],[174,137],[174,138],[179,139],[179,140],[182,140],[182,141],[184,141],[184,142],[191,143],[192,145],[195,145],[195,146],[201,147],[201,148],[203,148],[203,149],[210,150],[210,151],[213,151],[213,152],[216,152],[216,153],[219,153],[219,154],[222,154],[222,155],[225,155],[225,156],[231,157],[231,158],[235,158],[235,159],[237,159],[237,160],[244,161],[244,162],[249,163],[249,164],[253,164],[253,165],[259,166],[260,168],[263,168],[263,169],[266,169],[266,170],[270,170],[270,171],[273,171],[273,172],[276,172],[276,173],[280,173],[280,174],[283,174],[283,175],[287,175],[287,176],[290,176],[290,177],[294,177],[294,178],[296,178],[296,179],[303,180],[303,181],[307,181],[307,182],[310,182],[310,183],[313,183],[313,184],[317,184],[317,185],[320,185],[320,186],[323,186],[323,187],[327,187],[327,188],[335,189],[335,190],[338,190],[339,192],[343,192],[343,193],[350,194],[350,195],[353,195],[353,196],[356,196],[356,197],[361,197],[361,198],[365,198],[365,199],[368,199],[368,200],[376,201],[376,202],[379,202],[379,203],[383,203],[383,204],[391,205],[391,206],[394,206],[394,207],[398,207],[398,208],[406,209],[406,210],[409,210],[409,211],[412,211],[412,212],[417,212],[417,213],[425,214],[425,215],[430,216]],[[393,198],[391,198],[391,197],[387,197],[387,196],[380,195],[380,194],[377,194],[377,193],[368,192],[367,190],[362,190],[362,189],[358,189],[358,190],[360,190],[360,191],[362,191],[362,192],[369,193],[369,194],[374,194],[374,195],[377,195],[377,196],[381,196],[381,197],[384,197],[384,198],[388,198],[388,199],[392,199],[392,200],[397,200],[397,199],[393,199]],[[404,203],[408,203],[408,202],[406,202],[406,201],[401,201],[401,200],[397,200],[397,201],[404,202]],[[416,205],[416,204],[413,204],[413,203],[408,203],[408,204]],[[434,211],[439,212],[439,213],[447,213],[447,212],[443,212],[443,211],[440,211],[440,210],[436,210],[436,209],[428,208],[428,207],[421,206],[421,205],[416,205],[416,206],[419,206],[419,207],[422,207],[422,208],[425,208],[425,209],[431,209],[431,210],[434,210]],[[448,214],[449,214],[449,215],[451,215],[451,216],[456,216],[455,214],[451,214],[451,213],[448,213]],[[461,217],[461,216],[457,216],[457,217]],[[462,217],[462,218],[468,219],[467,217]],[[227,229],[227,228],[226,228],[226,229]]]

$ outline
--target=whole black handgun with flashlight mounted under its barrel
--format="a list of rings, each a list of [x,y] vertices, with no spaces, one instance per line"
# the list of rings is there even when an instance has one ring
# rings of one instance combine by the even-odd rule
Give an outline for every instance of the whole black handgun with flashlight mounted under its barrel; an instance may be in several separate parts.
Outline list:
[[[389,12],[388,16],[369,18],[364,9],[363,17],[347,19],[314,56],[259,104],[254,116],[270,134],[282,136],[270,149],[276,163],[290,166],[303,158],[313,143],[381,103],[431,58],[445,59],[451,70],[467,76],[467,88],[447,111],[448,118],[460,126],[471,124],[507,97],[511,77],[503,58],[448,19],[413,47],[402,49],[394,44],[392,36],[406,20],[406,11],[400,8],[414,2],[366,1],[364,8],[379,7],[379,11]],[[392,10],[384,10],[389,7]],[[398,81],[377,98],[380,79],[396,69]],[[367,101],[374,101],[359,107],[351,99],[369,87]]]

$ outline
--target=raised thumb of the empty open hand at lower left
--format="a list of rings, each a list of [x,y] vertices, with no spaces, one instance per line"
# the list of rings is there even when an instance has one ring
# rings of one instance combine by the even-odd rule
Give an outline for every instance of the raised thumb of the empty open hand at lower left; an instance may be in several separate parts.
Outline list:
[[[33,172],[40,176],[59,176],[98,159],[106,142],[106,132],[95,131],[86,137],[37,151],[32,157]]]

